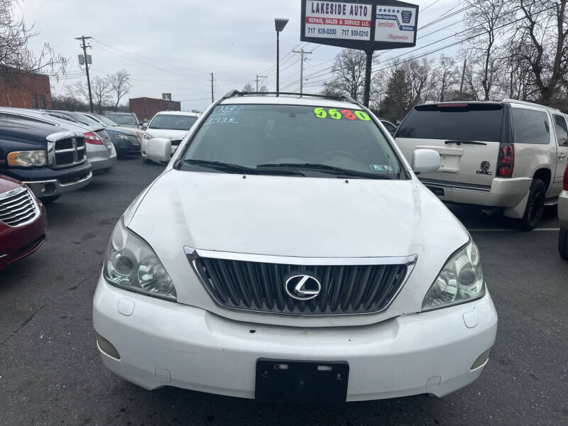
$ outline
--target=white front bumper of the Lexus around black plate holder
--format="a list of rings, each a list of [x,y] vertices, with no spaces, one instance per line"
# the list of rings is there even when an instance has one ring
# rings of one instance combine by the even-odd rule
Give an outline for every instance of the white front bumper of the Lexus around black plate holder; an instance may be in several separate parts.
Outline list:
[[[440,397],[468,385],[486,365],[471,370],[495,342],[497,315],[487,293],[464,305],[368,326],[302,329],[228,320],[101,278],[93,323],[120,355],[101,351],[105,366],[146,389],[176,386],[254,398],[259,358],[347,361],[347,400],[354,401]]]

